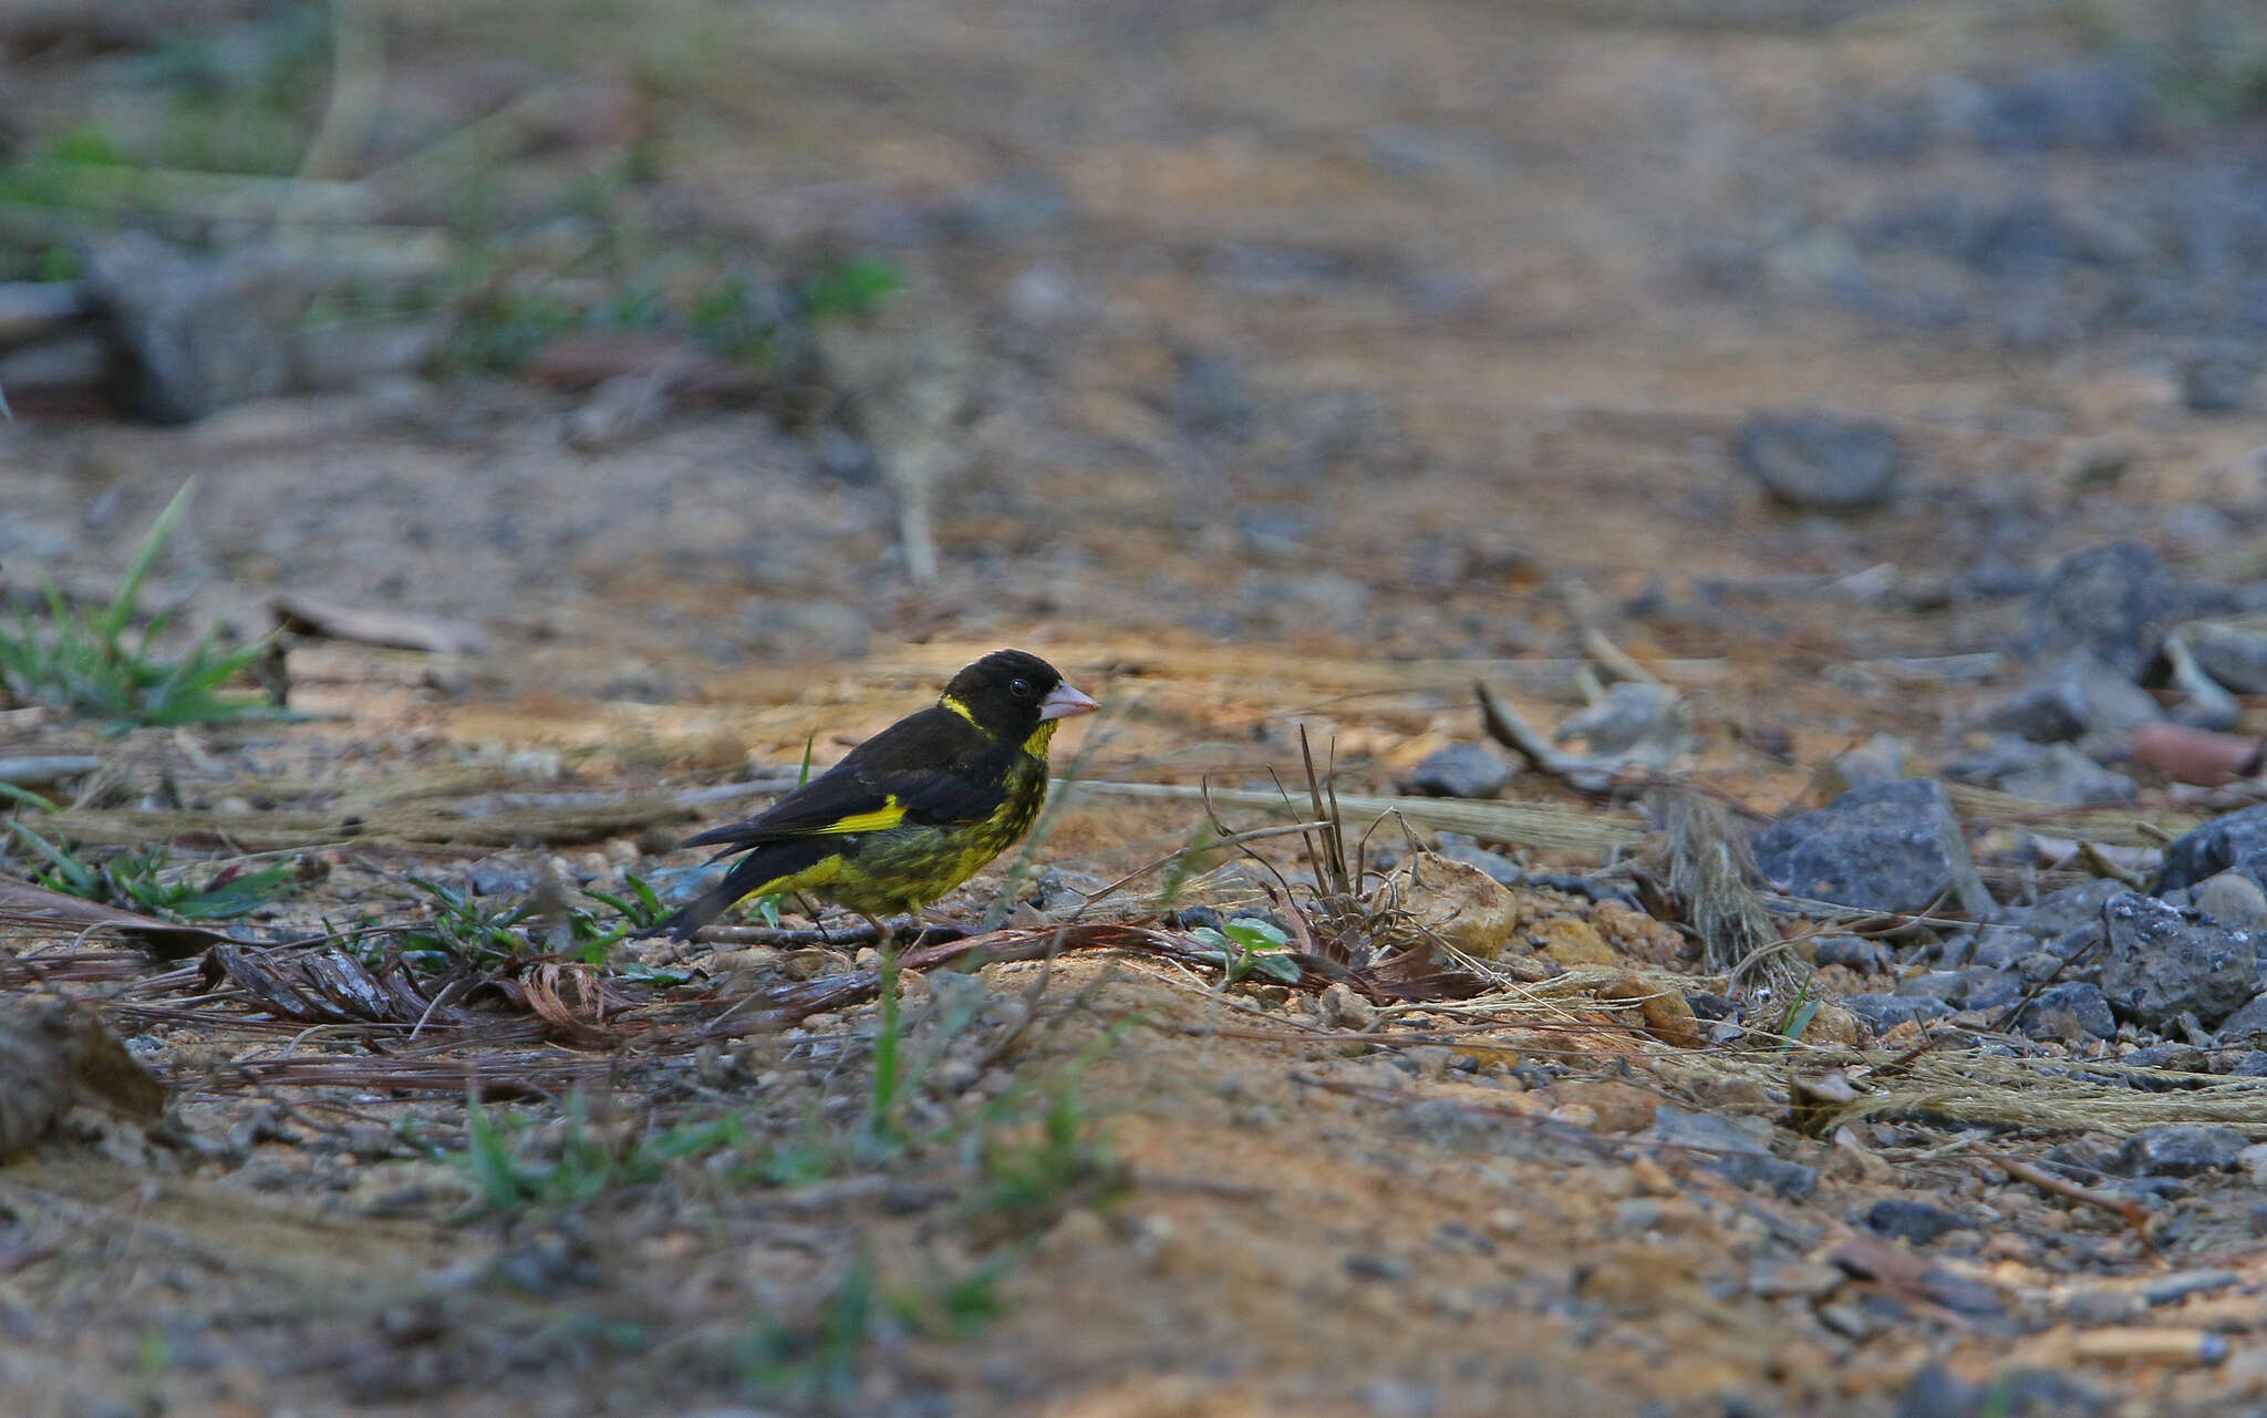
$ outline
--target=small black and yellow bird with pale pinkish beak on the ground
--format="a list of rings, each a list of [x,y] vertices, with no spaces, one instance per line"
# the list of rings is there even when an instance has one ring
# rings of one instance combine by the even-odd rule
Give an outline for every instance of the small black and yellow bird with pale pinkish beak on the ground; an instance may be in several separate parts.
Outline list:
[[[730,873],[644,930],[689,942],[746,896],[805,892],[882,926],[918,912],[1031,830],[1054,728],[1099,708],[1038,656],[1000,649],[769,810],[687,837],[744,853]]]

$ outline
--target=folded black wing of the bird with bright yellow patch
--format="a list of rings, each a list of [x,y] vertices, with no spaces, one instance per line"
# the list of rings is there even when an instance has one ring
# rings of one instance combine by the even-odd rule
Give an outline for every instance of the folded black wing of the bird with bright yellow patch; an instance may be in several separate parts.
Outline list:
[[[687,837],[682,846],[739,851],[764,842],[880,833],[900,824],[982,821],[1007,801],[1013,749],[963,758],[963,721],[945,710],[902,719],[839,765],[787,794],[771,810]],[[723,855],[723,853],[719,853]]]

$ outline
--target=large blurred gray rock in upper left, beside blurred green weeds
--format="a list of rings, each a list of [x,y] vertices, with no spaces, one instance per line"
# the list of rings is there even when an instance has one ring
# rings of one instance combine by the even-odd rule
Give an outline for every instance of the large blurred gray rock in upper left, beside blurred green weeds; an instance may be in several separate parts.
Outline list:
[[[86,295],[111,352],[111,386],[156,424],[283,393],[288,311],[249,252],[190,256],[129,231],[86,254]]]

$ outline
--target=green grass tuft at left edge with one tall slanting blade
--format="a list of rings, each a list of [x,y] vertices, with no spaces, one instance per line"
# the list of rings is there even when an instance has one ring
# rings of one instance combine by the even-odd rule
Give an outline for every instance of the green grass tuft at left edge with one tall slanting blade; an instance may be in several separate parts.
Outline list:
[[[152,651],[170,626],[170,613],[150,617],[129,638],[150,567],[195,488],[197,479],[184,483],[150,524],[100,613],[68,606],[50,581],[45,624],[34,622],[27,610],[16,615],[14,628],[0,624],[0,687],[18,699],[116,724],[209,724],[277,712],[258,699],[222,694],[224,685],[258,662],[268,649],[263,640],[215,649],[206,633],[179,660],[161,660]]]

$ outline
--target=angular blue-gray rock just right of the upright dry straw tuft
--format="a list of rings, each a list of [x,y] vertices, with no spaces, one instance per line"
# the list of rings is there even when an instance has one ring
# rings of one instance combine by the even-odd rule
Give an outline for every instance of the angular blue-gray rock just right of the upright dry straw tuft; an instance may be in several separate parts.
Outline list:
[[[1911,912],[1947,898],[1979,917],[1993,910],[1936,778],[1861,787],[1777,821],[1755,839],[1755,862],[1789,894],[1836,905]]]

